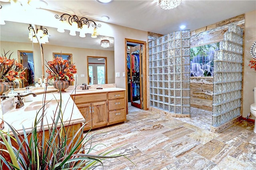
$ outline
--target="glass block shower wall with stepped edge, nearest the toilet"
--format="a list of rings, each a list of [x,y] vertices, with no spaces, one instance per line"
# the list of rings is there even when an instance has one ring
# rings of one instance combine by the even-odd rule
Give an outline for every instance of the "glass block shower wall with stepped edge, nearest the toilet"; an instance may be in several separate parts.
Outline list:
[[[220,50],[214,55],[212,126],[219,127],[240,116],[242,90],[243,29],[228,25]]]

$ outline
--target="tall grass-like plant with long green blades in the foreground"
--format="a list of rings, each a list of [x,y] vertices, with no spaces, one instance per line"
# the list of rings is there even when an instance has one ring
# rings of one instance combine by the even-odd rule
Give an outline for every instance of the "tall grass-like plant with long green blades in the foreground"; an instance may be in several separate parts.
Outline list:
[[[85,124],[76,132],[74,132],[70,121],[68,128],[64,126],[65,121],[62,119],[62,115],[65,108],[62,108],[61,93],[58,107],[52,111],[53,123],[45,129],[43,122],[47,111],[45,95],[46,93],[44,93],[44,105],[40,109],[42,114],[40,111],[37,112],[31,132],[27,133],[23,127],[23,135],[20,135],[16,129],[5,122],[12,135],[9,132],[0,131],[2,138],[0,141],[1,169],[87,170],[97,166],[104,168],[104,160],[109,158],[126,157],[118,154],[111,155],[111,152],[117,148],[97,155],[91,154],[98,144],[93,146],[94,135],[89,132],[84,134]],[[38,131],[38,127],[40,127],[40,131]],[[9,155],[9,158],[6,155]]]

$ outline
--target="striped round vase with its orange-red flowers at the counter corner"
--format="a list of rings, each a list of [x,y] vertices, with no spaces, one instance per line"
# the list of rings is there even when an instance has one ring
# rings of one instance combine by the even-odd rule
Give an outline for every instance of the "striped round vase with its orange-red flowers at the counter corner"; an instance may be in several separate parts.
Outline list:
[[[69,86],[69,81],[74,81],[74,73],[76,66],[69,64],[69,61],[62,57],[55,57],[52,61],[46,63],[46,73],[48,79],[55,79],[53,85],[59,92],[66,92],[65,89]]]

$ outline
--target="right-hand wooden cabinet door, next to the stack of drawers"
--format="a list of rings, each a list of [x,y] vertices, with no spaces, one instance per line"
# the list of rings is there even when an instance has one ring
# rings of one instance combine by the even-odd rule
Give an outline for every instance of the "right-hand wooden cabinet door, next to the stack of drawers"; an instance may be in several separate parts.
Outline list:
[[[107,102],[92,103],[92,127],[107,125],[108,123]]]

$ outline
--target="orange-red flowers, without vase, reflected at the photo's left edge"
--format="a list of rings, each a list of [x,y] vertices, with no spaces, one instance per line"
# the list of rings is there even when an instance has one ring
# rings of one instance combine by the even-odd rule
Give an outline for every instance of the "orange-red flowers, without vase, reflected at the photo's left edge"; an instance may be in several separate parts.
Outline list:
[[[25,69],[21,63],[18,63],[15,59],[11,59],[12,53],[10,53],[9,57],[6,57],[8,54],[5,53],[0,56],[0,79],[4,79],[5,81],[14,81],[15,79],[24,79]]]

